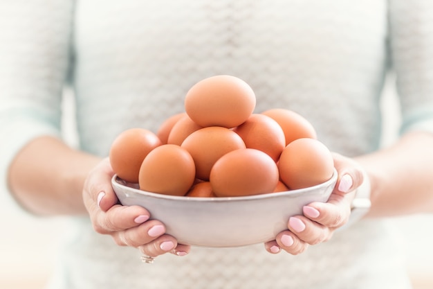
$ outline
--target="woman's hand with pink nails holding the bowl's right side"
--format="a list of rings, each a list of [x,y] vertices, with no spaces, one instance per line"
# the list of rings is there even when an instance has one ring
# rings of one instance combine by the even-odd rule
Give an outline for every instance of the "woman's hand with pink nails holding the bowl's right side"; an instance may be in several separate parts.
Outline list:
[[[349,220],[351,202],[355,191],[362,184],[362,168],[353,159],[333,154],[338,180],[328,202],[312,202],[304,206],[304,215],[288,220],[288,230],[280,232],[275,240],[265,243],[266,250],[278,253],[282,249],[296,255],[304,252],[308,245],[329,240],[335,229]]]

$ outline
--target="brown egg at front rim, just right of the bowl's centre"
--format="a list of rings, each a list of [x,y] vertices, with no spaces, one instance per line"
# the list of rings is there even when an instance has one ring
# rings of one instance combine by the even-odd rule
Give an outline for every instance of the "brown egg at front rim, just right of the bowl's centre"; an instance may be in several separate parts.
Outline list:
[[[212,191],[219,197],[271,193],[278,180],[275,161],[265,152],[253,148],[228,152],[210,171]]]

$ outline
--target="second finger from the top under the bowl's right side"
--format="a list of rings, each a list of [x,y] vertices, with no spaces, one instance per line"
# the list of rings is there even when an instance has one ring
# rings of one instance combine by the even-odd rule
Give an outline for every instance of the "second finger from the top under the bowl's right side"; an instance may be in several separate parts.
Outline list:
[[[309,245],[323,243],[329,240],[332,235],[332,231],[329,227],[320,225],[304,216],[293,216],[289,218],[288,229],[302,242],[308,243]]]

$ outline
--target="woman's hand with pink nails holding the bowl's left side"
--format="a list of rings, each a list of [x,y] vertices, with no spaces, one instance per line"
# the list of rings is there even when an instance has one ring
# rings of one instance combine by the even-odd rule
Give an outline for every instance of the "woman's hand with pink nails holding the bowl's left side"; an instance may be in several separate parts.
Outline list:
[[[140,249],[142,254],[156,257],[167,252],[183,256],[190,246],[180,245],[176,238],[165,234],[165,226],[149,220],[150,214],[140,206],[122,206],[111,187],[114,173],[106,158],[86,178],[83,200],[93,228],[113,237],[120,246]]]

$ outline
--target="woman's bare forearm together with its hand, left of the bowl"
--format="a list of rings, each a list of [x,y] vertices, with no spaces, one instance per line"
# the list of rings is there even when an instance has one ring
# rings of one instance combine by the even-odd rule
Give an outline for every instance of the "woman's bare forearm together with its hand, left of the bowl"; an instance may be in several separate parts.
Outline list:
[[[118,245],[137,247],[152,257],[187,254],[190,247],[166,235],[165,226],[149,220],[145,208],[116,204],[112,176],[108,158],[73,150],[55,137],[39,137],[12,161],[8,183],[18,202],[32,213],[88,213],[95,230],[112,236]]]

